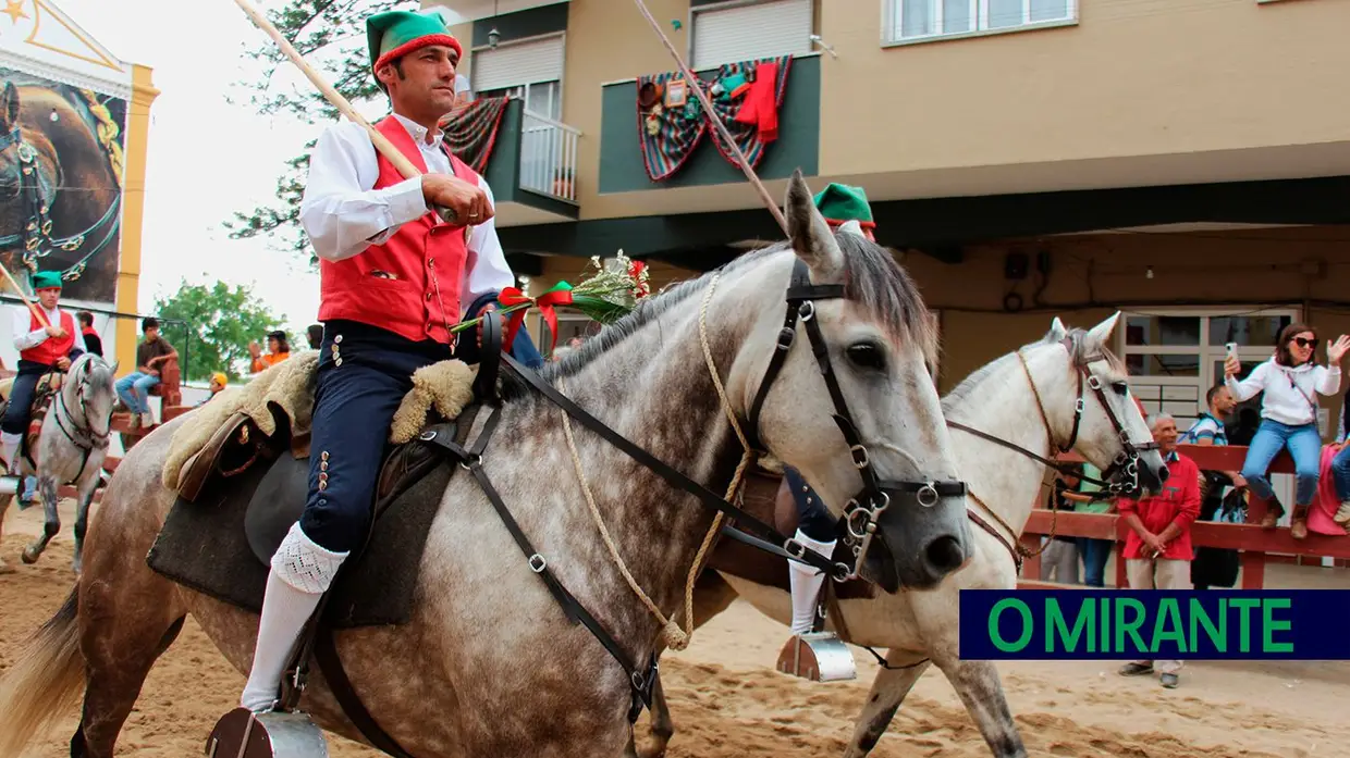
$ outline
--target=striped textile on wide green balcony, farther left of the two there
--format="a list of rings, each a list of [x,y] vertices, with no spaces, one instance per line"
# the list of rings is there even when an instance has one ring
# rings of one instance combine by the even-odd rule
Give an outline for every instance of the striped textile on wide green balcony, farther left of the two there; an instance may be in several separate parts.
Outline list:
[[[653,182],[679,171],[707,131],[698,97],[688,86],[679,71],[637,77],[639,144]]]

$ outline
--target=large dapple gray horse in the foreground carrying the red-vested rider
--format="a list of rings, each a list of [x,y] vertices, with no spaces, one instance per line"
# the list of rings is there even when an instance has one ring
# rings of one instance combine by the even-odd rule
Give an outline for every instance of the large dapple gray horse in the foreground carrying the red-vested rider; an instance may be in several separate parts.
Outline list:
[[[539,550],[535,558],[547,561],[630,661],[663,651],[664,624],[616,566],[597,519],[652,604],[678,616],[713,511],[580,424],[574,465],[563,413],[548,392],[563,392],[617,434],[722,492],[742,457],[729,417],[745,424],[771,357],[782,355],[753,432],[832,503],[844,503],[859,491],[863,471],[836,422],[821,372],[828,359],[859,445],[882,479],[909,486],[954,477],[930,372],[937,339],[917,287],[884,248],[833,233],[801,174],[790,182],[786,216],[788,243],[645,298],[552,364],[543,375],[551,390],[512,375],[491,445],[475,459]],[[813,285],[837,294],[806,314],[811,340],[803,334],[780,349],[784,293],[798,262]],[[811,349],[817,340],[819,357]],[[471,440],[483,429],[482,415]],[[76,591],[0,681],[0,758],[16,758],[81,691],[72,755],[111,758],[146,674],[186,614],[247,670],[258,616],[146,565],[174,502],[161,473],[180,425],[155,429],[122,461],[96,514]],[[876,523],[878,546],[863,573],[882,587],[930,587],[971,552],[964,496],[927,508],[892,499]],[[455,476],[440,498],[417,581],[409,623],[336,633],[352,685],[405,751],[636,754],[630,677],[590,631],[568,623],[473,476]],[[305,689],[301,709],[325,730],[362,739],[321,677]]]

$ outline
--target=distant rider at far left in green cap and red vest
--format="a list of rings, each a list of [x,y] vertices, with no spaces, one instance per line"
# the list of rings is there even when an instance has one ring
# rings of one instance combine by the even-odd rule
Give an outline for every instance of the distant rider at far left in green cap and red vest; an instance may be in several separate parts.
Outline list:
[[[74,316],[57,305],[61,301],[61,274],[38,271],[32,275],[32,290],[38,295],[38,308],[46,316],[46,324],[35,310],[27,308],[18,308],[11,316],[14,347],[19,351],[19,375],[14,378],[9,405],[0,422],[0,446],[11,475],[19,473],[19,452],[23,436],[28,432],[38,380],[53,371],[69,370],[70,363],[85,352],[84,334],[76,326]]]

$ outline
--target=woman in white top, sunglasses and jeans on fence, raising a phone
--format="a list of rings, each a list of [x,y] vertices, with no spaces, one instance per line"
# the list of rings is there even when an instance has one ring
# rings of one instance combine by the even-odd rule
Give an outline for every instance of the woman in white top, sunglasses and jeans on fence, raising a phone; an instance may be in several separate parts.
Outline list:
[[[1322,434],[1318,432],[1316,395],[1341,391],[1341,359],[1350,348],[1350,337],[1342,334],[1327,345],[1324,367],[1315,363],[1316,348],[1318,334],[1312,326],[1291,324],[1280,332],[1274,356],[1251,370],[1246,379],[1237,379],[1242,370],[1237,356],[1228,355],[1223,364],[1224,380],[1235,401],[1265,392],[1261,426],[1242,464],[1242,476],[1251,492],[1269,499],[1273,495],[1268,476],[1270,461],[1285,448],[1293,457],[1297,486],[1289,531],[1295,540],[1308,535],[1308,507],[1318,494]],[[1273,519],[1268,515],[1262,526],[1273,527]]]

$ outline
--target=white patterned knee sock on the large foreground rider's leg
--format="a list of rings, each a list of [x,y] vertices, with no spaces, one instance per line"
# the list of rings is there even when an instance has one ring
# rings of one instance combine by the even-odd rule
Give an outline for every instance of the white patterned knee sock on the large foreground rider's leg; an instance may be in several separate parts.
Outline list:
[[[290,662],[300,630],[319,607],[319,599],[328,591],[346,558],[347,553],[325,550],[305,537],[300,523],[290,527],[271,557],[262,619],[258,622],[258,646],[248,684],[239,697],[242,707],[261,712],[275,703],[281,676]]]

